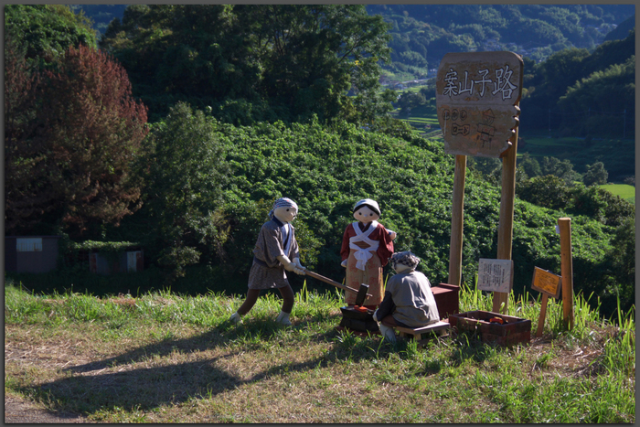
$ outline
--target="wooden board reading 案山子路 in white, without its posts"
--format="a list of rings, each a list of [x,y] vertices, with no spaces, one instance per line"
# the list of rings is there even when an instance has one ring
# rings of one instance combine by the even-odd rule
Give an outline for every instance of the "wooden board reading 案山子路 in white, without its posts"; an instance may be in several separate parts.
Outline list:
[[[518,124],[523,61],[513,52],[447,53],[435,101],[450,155],[500,157]]]

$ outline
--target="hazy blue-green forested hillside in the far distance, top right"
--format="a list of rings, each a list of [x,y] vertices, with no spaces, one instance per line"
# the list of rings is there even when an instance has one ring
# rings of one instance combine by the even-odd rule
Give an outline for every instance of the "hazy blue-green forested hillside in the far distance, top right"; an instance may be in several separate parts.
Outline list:
[[[411,79],[437,69],[448,52],[510,50],[540,62],[565,48],[591,50],[634,16],[635,5],[368,5],[367,10],[392,26],[394,51],[385,69]]]

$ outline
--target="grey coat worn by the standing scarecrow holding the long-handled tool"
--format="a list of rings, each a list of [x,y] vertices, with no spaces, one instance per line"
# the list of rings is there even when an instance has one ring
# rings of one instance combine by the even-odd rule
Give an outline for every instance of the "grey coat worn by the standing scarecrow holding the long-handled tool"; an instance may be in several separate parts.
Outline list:
[[[260,229],[258,241],[253,248],[255,259],[249,272],[249,289],[272,289],[289,285],[283,263],[276,257],[286,255],[293,261],[293,258],[300,258],[300,250],[295,241],[295,229],[289,224],[291,247],[289,253],[284,253],[283,231],[280,224],[282,224],[280,221],[272,219],[265,222]]]

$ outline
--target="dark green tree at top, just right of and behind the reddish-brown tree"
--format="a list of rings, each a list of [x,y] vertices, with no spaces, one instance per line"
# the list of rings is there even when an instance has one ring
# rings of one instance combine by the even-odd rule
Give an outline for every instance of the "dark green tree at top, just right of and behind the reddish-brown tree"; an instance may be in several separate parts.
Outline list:
[[[153,122],[177,101],[200,109],[254,101],[259,68],[248,31],[232,5],[129,5],[100,47],[119,59]]]

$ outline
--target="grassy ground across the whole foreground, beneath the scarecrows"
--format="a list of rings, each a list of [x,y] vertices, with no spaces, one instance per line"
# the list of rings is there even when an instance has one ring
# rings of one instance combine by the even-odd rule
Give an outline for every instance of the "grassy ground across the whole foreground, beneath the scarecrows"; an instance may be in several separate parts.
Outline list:
[[[635,422],[634,310],[602,319],[581,295],[561,326],[549,299],[544,335],[497,347],[476,336],[421,348],[337,332],[343,296],[296,293],[293,326],[261,295],[168,292],[98,298],[5,286],[5,393],[90,422]],[[539,297],[507,304],[537,329]],[[491,295],[464,286],[461,311]]]

